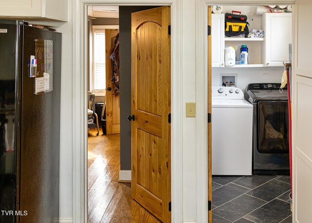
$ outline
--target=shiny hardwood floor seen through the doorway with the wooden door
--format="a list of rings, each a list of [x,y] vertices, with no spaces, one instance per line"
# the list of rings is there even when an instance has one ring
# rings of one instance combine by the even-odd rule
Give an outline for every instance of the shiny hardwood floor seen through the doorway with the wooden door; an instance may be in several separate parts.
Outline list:
[[[131,198],[131,183],[117,182],[120,135],[88,133],[88,223],[160,223]]]

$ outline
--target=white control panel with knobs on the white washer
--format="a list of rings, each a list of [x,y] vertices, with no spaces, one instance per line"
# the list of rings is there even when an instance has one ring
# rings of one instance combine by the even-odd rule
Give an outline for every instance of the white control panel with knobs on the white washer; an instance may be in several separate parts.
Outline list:
[[[212,87],[213,99],[244,99],[244,93],[237,87]]]

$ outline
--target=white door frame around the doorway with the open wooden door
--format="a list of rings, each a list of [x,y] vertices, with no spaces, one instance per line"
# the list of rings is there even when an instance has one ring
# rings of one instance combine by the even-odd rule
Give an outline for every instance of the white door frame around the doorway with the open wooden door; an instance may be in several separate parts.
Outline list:
[[[180,0],[73,1],[73,222],[87,223],[87,6],[171,6],[171,186],[172,222],[182,222],[182,83]]]

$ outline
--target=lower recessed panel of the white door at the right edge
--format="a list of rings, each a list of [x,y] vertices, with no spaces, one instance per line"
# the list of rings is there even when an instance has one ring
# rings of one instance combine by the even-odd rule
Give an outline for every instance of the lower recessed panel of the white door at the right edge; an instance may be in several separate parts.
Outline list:
[[[296,142],[294,146],[294,205],[295,205],[295,223],[306,223],[312,219],[312,117],[311,101],[312,79],[296,77],[296,95],[295,103],[296,131],[294,132]]]

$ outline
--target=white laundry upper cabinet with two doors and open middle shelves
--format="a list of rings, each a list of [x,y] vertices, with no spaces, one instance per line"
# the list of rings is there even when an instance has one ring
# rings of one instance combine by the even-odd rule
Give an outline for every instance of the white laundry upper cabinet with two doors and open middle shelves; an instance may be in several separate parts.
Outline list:
[[[289,44],[292,43],[292,13],[265,13],[257,19],[256,27],[265,31],[264,38],[225,38],[224,14],[212,14],[212,67],[224,67],[224,48],[235,48],[240,58],[241,45],[247,45],[248,64],[232,67],[283,66],[289,61]],[[261,22],[260,22],[261,20]]]

